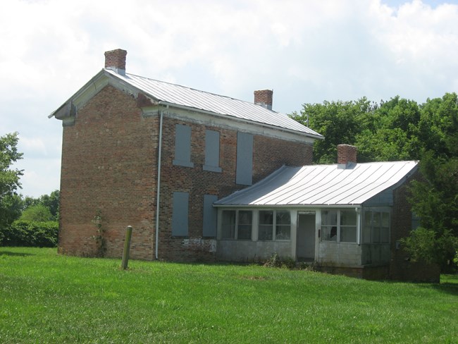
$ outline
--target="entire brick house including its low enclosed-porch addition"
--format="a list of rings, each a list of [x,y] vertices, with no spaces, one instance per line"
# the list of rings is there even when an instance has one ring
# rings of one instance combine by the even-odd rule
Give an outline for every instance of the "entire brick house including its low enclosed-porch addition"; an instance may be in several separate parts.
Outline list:
[[[58,250],[120,257],[259,261],[275,252],[366,278],[438,280],[411,264],[407,184],[415,161],[311,166],[323,137],[272,110],[125,73],[127,52],[51,116],[63,123]],[[104,245],[100,245],[103,238]]]

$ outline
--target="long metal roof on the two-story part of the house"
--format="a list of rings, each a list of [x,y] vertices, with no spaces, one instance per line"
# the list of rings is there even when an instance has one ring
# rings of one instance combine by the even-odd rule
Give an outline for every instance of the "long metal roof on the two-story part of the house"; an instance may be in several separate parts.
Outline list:
[[[144,78],[138,75],[128,73],[120,75],[110,69],[104,69],[104,71],[148,94],[158,102],[175,104],[197,111],[208,111],[223,116],[240,118],[246,121],[273,125],[316,138],[323,137],[284,113],[272,111],[260,105],[218,94],[194,90],[190,87]]]

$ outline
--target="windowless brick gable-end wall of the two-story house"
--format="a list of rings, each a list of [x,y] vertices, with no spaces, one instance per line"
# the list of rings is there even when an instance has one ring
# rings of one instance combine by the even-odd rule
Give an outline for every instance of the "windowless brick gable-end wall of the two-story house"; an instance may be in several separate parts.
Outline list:
[[[157,118],[142,118],[135,99],[110,86],[63,128],[59,252],[97,255],[92,219],[100,210],[107,257],[122,256],[128,225],[131,257],[154,257],[157,128]]]

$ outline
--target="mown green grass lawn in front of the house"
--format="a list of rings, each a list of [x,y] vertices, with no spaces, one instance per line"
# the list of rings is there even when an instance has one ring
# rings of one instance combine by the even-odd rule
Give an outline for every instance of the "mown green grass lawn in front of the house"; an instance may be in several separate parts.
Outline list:
[[[0,247],[0,343],[458,343],[458,277],[364,281],[262,266]]]

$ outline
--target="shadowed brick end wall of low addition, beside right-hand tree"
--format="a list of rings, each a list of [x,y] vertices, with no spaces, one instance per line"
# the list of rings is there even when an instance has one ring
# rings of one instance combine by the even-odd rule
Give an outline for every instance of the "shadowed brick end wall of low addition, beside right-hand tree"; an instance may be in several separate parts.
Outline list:
[[[404,252],[402,248],[396,248],[396,242],[407,237],[411,231],[411,205],[408,201],[408,185],[411,180],[417,178],[420,178],[418,172],[411,176],[407,183],[404,183],[393,192],[390,278],[398,281],[439,282],[439,266],[410,262],[409,254]]]

